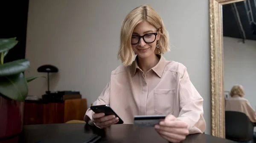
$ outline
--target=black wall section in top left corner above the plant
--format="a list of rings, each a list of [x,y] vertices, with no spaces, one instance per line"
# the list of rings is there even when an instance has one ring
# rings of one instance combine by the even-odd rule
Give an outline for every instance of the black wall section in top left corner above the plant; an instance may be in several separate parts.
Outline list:
[[[9,51],[5,62],[25,58],[29,0],[2,0],[0,38],[17,37],[19,43]]]

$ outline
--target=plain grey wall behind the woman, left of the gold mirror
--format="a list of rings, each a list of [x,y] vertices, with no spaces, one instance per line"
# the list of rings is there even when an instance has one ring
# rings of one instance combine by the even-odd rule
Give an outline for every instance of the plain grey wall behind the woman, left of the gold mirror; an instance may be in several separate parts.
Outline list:
[[[150,4],[170,34],[167,60],[181,62],[204,98],[206,133],[210,134],[210,51],[207,0],[30,0],[26,76],[41,75],[37,67],[53,64],[59,73],[50,90],[79,90],[88,106],[95,101],[119,64],[116,53],[126,14]],[[43,74],[44,75],[44,74]],[[41,96],[47,81],[29,84],[29,94]]]

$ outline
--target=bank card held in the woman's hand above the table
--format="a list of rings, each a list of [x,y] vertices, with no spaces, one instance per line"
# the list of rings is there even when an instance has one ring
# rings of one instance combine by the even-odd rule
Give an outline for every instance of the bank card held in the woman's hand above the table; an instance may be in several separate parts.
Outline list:
[[[134,126],[154,127],[165,118],[166,115],[136,115],[134,116]]]

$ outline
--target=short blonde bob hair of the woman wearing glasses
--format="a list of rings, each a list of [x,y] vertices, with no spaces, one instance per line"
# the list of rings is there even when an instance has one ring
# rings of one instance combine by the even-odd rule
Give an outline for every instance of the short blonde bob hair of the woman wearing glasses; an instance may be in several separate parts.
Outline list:
[[[168,52],[169,49],[169,33],[166,30],[160,15],[149,5],[138,6],[134,8],[122,22],[120,34],[120,47],[118,51],[118,59],[121,59],[125,66],[131,65],[134,60],[134,51],[131,47],[132,32],[137,24],[147,21],[155,28],[159,29],[160,39],[158,40],[159,48],[155,49],[157,55]]]

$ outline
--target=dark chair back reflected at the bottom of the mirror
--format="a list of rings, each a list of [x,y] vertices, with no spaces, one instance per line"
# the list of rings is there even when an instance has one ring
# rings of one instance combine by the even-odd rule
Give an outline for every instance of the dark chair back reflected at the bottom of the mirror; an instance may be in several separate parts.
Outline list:
[[[253,123],[242,112],[225,112],[226,138],[229,140],[246,142],[253,140]]]

